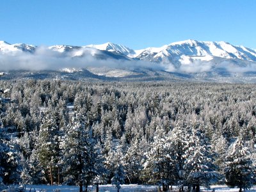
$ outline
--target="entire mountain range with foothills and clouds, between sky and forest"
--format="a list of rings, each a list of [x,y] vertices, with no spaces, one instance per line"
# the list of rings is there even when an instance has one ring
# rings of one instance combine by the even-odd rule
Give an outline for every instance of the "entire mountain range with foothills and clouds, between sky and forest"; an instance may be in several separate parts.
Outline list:
[[[86,74],[122,79],[255,82],[256,51],[227,42],[196,40],[141,50],[109,42],[45,47],[0,41],[0,70],[72,74],[86,70]]]

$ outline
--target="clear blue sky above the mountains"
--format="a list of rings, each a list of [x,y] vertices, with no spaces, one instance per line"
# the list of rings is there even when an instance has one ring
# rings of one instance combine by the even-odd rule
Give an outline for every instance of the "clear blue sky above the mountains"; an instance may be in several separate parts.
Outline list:
[[[191,38],[256,49],[255,19],[255,0],[3,0],[0,40],[142,49]]]

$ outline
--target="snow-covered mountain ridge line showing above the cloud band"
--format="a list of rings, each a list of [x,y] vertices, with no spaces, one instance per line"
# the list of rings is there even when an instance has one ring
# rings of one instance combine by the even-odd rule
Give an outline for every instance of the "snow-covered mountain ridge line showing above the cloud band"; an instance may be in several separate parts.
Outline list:
[[[187,46],[185,47],[185,45]],[[209,48],[205,46],[208,46]],[[40,46],[22,44],[22,43],[9,44],[6,41],[3,41],[3,40],[0,41],[0,51],[4,51],[4,49],[6,48],[7,49],[9,48],[9,51],[17,51],[17,49],[10,49],[10,47],[13,47],[13,48],[16,47],[18,50],[22,50],[22,51],[26,51],[28,49],[29,51],[31,51],[32,48],[36,49],[37,47],[40,47]],[[119,54],[124,54],[125,56],[129,56],[129,58],[143,58],[141,54],[147,53],[147,54],[154,54],[154,58],[166,56],[166,55],[170,56],[172,54],[177,54],[177,55],[184,54],[184,55],[193,55],[193,56],[211,55],[211,56],[218,56],[221,58],[238,58],[241,60],[256,61],[255,49],[244,47],[243,45],[232,45],[224,41],[211,42],[211,41],[198,41],[198,40],[189,39],[189,40],[184,40],[179,42],[172,42],[170,44],[163,45],[161,47],[147,47],[145,49],[139,49],[139,50],[134,50],[125,45],[114,44],[111,42],[107,42],[105,44],[90,44],[90,45],[83,45],[83,46],[51,45],[48,48],[54,51],[59,51],[59,52],[72,51],[73,49],[93,48],[93,49],[98,49],[100,51],[111,51]],[[186,48],[189,48],[189,49],[186,50]],[[194,50],[192,50],[191,48],[194,48]],[[218,52],[216,51],[214,52],[213,49],[217,49]],[[248,55],[244,56],[244,52],[248,52],[249,56]]]

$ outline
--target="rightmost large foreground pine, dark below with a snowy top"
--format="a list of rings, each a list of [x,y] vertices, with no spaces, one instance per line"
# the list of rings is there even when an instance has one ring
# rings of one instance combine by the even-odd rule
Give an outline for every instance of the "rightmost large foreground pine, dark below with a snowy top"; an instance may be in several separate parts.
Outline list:
[[[250,149],[246,147],[241,135],[228,150],[224,172],[226,184],[232,188],[237,186],[239,192],[242,192],[242,189],[250,189],[255,182]]]

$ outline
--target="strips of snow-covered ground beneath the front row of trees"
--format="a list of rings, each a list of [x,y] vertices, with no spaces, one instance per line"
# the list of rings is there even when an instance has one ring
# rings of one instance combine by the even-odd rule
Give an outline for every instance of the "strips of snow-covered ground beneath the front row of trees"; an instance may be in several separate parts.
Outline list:
[[[26,186],[26,192],[56,192],[60,189],[60,192],[68,192],[68,191],[79,191],[78,186],[47,186],[47,185],[27,185]],[[201,191],[228,191],[228,192],[233,192],[233,191],[239,191],[237,188],[228,188],[227,186],[211,186],[211,189],[205,189],[201,188]],[[89,191],[96,191],[95,186],[90,186]],[[104,192],[114,192],[116,191],[115,186],[112,186],[111,184],[108,185],[101,185],[99,186],[99,191],[104,191]],[[122,185],[122,188],[120,189],[120,192],[128,192],[128,191],[157,191],[157,186],[143,186],[143,185],[136,185],[136,184],[131,184],[131,185]],[[179,191],[175,187],[173,187],[173,191]],[[252,191],[256,192],[256,186],[253,187],[250,190],[246,191]]]

